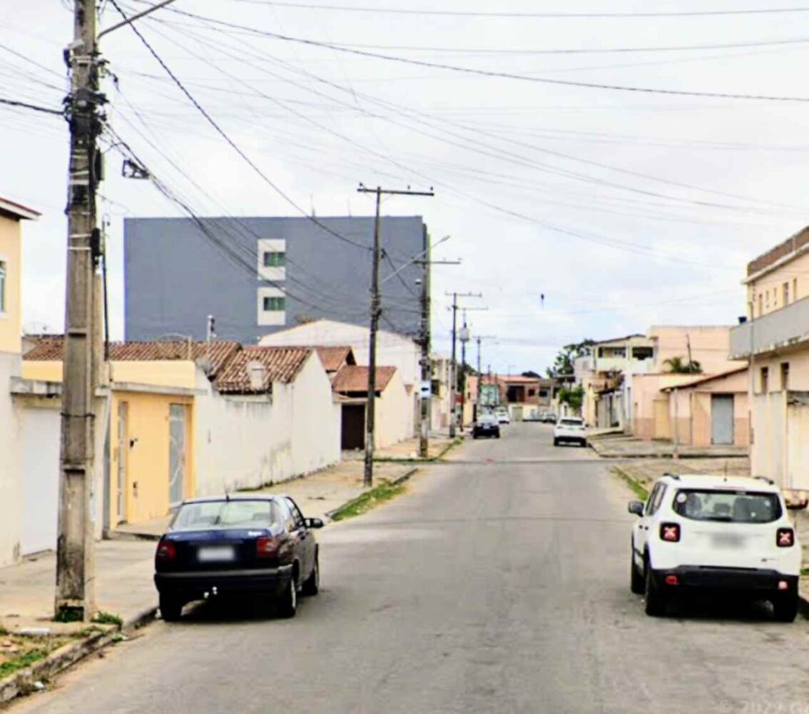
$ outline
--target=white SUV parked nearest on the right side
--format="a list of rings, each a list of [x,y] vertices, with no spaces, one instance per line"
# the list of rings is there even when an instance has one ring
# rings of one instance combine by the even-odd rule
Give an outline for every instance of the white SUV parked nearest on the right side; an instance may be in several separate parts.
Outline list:
[[[801,549],[773,482],[666,474],[629,512],[640,516],[631,589],[645,594],[646,614],[665,614],[680,593],[732,593],[769,600],[777,620],[794,620]]]

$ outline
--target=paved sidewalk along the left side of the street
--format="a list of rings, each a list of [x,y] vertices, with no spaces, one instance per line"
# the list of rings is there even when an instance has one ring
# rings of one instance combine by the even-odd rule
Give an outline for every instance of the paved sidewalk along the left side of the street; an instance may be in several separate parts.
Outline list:
[[[407,453],[409,447],[400,446]],[[440,450],[447,446],[435,444],[434,448]],[[404,480],[416,468],[411,462],[375,463],[375,485]],[[362,461],[343,461],[303,478],[244,493],[284,493],[295,499],[304,516],[328,521],[329,512],[367,491],[362,486],[362,471]],[[110,624],[87,629],[87,623],[52,621],[56,584],[53,551],[0,568],[0,634],[8,640],[0,642],[0,646],[6,647],[0,651],[0,663],[7,652],[22,651],[21,647],[47,650],[33,665],[16,665],[19,669],[13,674],[0,678],[0,704],[32,688],[41,688],[42,681],[115,641],[121,636],[117,632],[119,625],[112,624],[117,623],[118,618],[121,629],[129,630],[155,617],[158,597],[152,581],[154,541],[166,531],[169,518],[125,525],[112,533],[112,540],[96,542],[96,610],[111,616],[107,618]],[[18,639],[11,641],[15,637]],[[41,644],[45,640],[49,644]],[[21,644],[26,642],[28,644]]]

